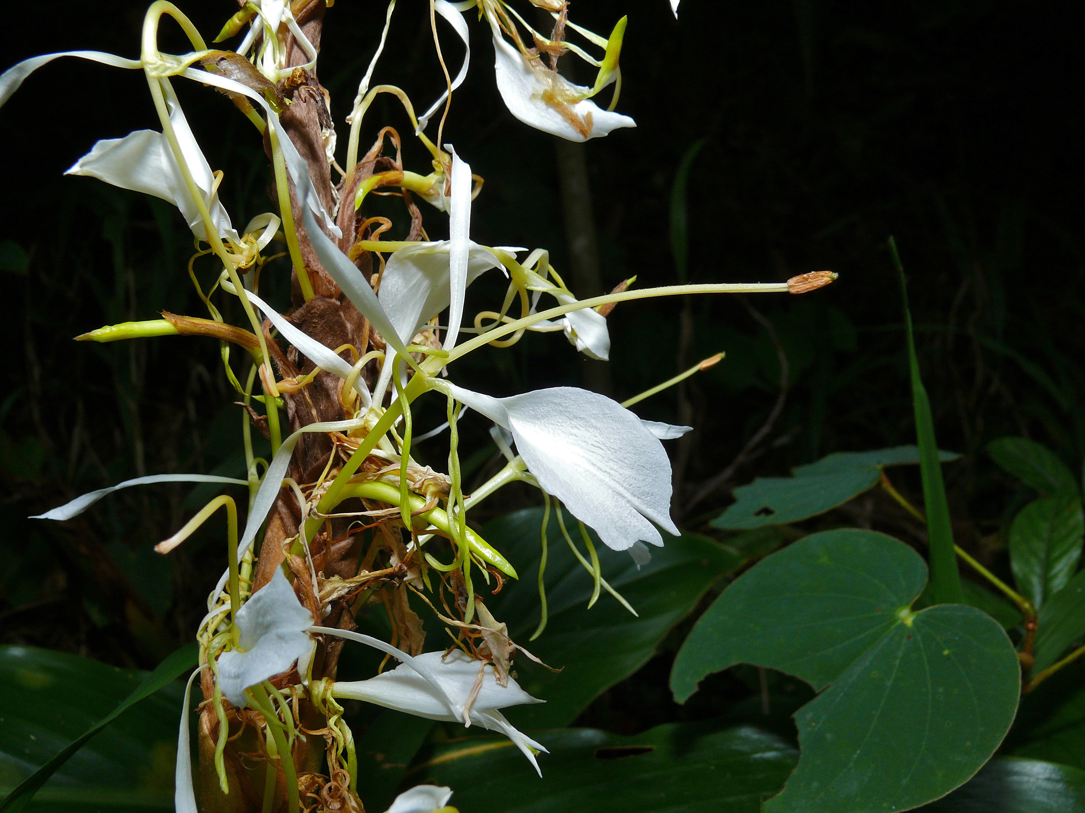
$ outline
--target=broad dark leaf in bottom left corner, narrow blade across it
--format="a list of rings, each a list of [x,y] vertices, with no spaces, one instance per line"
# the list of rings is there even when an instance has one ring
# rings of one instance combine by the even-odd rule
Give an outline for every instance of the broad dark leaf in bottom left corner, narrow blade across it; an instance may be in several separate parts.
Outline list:
[[[196,654],[194,643],[181,647],[144,678],[74,655],[0,647],[0,784],[41,765],[0,802],[0,811],[22,810],[53,774],[66,784],[168,792],[182,695],[170,684],[195,667]],[[138,719],[119,721],[80,751],[122,713],[167,686],[173,691],[145,704]]]

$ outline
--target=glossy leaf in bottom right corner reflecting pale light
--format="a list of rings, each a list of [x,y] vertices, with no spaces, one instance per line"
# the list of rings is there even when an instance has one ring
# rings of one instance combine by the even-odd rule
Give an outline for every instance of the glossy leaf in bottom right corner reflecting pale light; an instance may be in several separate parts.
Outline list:
[[[966,785],[916,813],[1082,813],[1085,771],[1039,760],[999,758]]]

